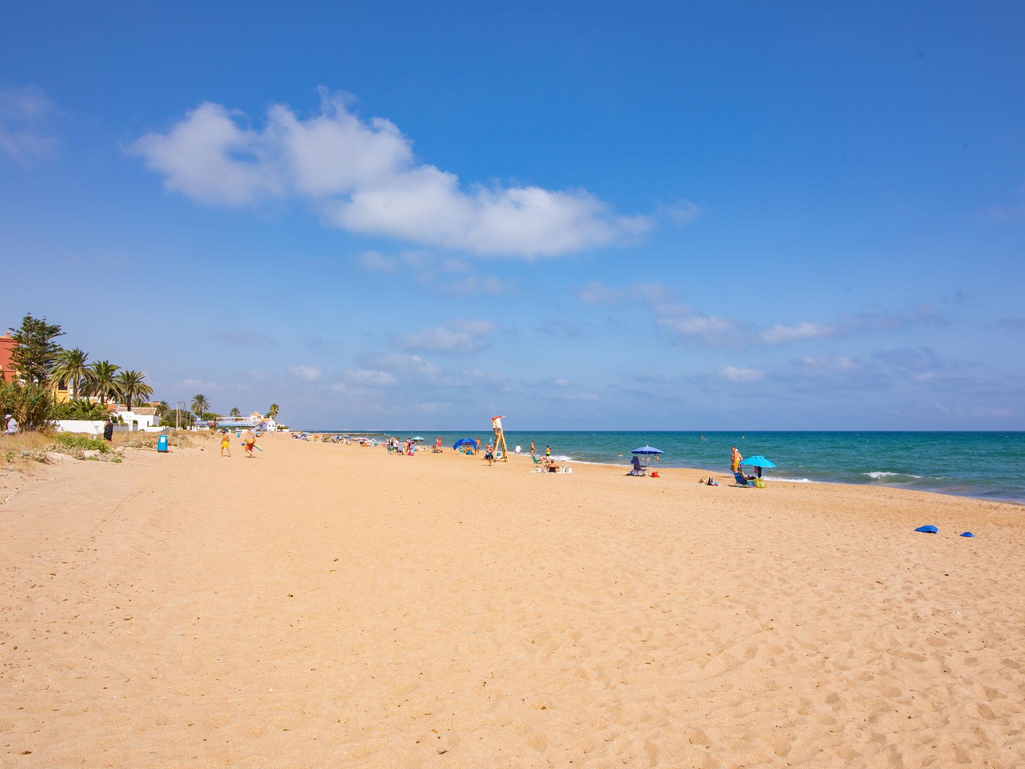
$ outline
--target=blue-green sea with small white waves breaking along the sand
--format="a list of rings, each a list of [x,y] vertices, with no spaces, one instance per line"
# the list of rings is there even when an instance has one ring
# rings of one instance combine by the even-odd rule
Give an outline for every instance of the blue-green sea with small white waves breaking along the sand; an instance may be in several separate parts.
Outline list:
[[[355,431],[315,431],[351,432]],[[441,435],[447,448],[460,438],[480,438],[490,431],[371,431],[399,438]],[[630,450],[650,445],[662,449],[669,468],[727,472],[730,448],[744,456],[763,454],[776,463],[766,479],[803,483],[853,483],[865,486],[937,491],[985,499],[1025,502],[1025,433],[680,433],[680,432],[515,432],[506,431],[512,450],[519,443],[538,453],[545,445],[563,461],[625,464]],[[622,456],[620,456],[620,454]]]

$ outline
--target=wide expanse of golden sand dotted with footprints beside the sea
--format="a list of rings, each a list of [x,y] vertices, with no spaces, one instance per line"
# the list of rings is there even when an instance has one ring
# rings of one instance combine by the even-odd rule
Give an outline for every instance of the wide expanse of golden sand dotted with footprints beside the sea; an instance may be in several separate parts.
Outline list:
[[[1019,505],[201,443],[0,505],[0,765],[1025,765]]]

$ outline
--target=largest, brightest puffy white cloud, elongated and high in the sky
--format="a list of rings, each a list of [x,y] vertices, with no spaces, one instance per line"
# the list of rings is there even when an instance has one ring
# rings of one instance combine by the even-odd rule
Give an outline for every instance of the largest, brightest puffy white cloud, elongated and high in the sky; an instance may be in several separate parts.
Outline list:
[[[618,215],[583,190],[466,188],[453,173],[416,164],[412,140],[394,123],[362,120],[346,96],[321,95],[320,113],[304,120],[271,107],[262,130],[205,103],[129,152],[163,174],[168,190],[202,203],[300,198],[352,232],[478,254],[572,253],[629,242],[653,224],[651,216]]]

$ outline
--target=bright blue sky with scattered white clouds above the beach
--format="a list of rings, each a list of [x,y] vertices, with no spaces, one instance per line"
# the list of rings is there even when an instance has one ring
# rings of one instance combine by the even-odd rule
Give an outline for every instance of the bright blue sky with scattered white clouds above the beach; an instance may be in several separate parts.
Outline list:
[[[1022,15],[23,5],[0,323],[296,427],[1025,429]]]

